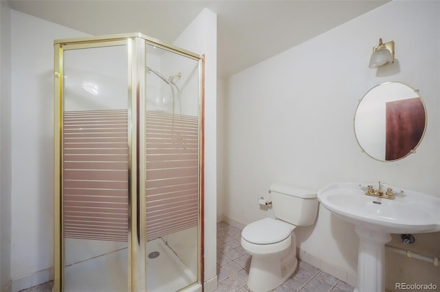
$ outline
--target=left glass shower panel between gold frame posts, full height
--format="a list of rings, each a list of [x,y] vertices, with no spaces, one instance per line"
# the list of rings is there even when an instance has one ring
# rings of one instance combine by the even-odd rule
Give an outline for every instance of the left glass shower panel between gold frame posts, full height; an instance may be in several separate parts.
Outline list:
[[[64,291],[126,291],[127,46],[63,59]]]

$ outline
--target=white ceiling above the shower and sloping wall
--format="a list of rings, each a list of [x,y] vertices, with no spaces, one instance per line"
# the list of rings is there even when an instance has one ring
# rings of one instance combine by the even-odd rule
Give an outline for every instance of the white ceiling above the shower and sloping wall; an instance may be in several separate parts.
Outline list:
[[[217,14],[217,69],[229,77],[373,10],[375,0],[10,0],[14,10],[91,35],[141,32],[173,43],[203,10]]]

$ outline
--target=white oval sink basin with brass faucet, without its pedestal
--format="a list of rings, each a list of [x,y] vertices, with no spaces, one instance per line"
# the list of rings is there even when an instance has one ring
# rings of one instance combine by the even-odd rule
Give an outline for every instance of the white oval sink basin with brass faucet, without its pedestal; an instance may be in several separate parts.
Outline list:
[[[318,192],[325,208],[355,226],[387,233],[440,231],[440,198],[391,187],[395,199],[365,195],[367,184],[335,183]],[[377,183],[372,184],[377,188]]]

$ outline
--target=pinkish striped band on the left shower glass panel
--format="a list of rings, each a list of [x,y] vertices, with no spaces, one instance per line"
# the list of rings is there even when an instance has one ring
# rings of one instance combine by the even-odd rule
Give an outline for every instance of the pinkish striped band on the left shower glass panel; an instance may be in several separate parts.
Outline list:
[[[126,241],[127,111],[64,112],[64,236]]]

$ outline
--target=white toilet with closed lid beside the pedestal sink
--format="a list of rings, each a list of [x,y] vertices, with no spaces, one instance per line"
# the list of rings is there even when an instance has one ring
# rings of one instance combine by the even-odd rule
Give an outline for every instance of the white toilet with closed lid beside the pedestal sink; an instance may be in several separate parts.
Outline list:
[[[316,192],[287,184],[272,184],[276,219],[250,223],[241,232],[241,246],[252,256],[248,287],[267,292],[283,284],[296,270],[296,226],[314,223],[318,211]]]

